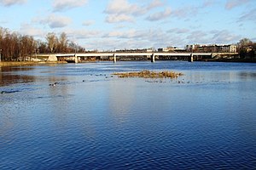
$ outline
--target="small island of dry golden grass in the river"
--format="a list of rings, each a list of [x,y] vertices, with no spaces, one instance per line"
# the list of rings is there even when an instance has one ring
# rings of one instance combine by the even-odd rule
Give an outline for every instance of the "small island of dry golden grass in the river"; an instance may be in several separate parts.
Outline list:
[[[117,72],[113,73],[120,78],[128,78],[128,77],[140,77],[140,78],[177,78],[179,76],[183,76],[183,73],[177,73],[174,71],[138,71],[138,72]]]

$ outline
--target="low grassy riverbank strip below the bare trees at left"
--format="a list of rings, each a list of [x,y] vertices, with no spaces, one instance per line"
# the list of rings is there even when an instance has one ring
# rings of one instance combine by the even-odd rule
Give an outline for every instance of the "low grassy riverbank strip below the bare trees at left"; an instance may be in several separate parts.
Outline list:
[[[0,66],[66,64],[67,61],[2,61]]]

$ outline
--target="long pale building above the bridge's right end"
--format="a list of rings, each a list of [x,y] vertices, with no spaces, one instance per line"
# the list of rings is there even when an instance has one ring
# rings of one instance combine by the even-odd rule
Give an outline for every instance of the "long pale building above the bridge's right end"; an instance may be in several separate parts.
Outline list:
[[[186,50],[189,52],[198,52],[198,53],[236,53],[236,45],[187,45]]]

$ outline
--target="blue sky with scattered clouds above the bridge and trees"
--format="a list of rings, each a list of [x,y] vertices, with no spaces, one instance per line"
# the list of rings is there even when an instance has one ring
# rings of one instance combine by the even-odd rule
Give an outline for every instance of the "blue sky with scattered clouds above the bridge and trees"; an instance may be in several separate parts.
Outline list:
[[[256,41],[255,0],[0,0],[0,26],[86,49],[183,48]]]

